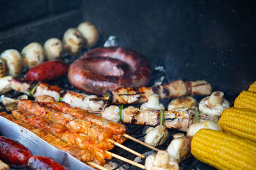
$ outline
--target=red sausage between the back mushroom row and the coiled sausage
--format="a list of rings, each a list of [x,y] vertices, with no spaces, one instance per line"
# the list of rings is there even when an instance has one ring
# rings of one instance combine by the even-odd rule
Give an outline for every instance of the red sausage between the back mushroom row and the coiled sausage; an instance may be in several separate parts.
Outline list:
[[[51,60],[31,68],[27,78],[31,81],[49,81],[67,74],[68,64],[61,60]]]

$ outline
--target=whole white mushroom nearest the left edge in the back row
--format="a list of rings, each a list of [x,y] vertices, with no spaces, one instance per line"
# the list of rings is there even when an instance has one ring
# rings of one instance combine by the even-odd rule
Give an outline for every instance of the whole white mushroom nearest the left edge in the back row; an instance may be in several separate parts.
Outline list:
[[[17,50],[5,50],[1,53],[1,59],[6,64],[6,75],[19,76],[22,70],[22,59]]]

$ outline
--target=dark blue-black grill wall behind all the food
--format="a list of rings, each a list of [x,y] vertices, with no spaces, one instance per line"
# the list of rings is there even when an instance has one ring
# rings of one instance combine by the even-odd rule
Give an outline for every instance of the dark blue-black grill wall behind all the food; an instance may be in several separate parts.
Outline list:
[[[0,0],[0,52],[62,38],[83,20],[101,31],[97,46],[120,46],[164,66],[168,81],[207,80],[234,93],[256,80],[253,1]]]

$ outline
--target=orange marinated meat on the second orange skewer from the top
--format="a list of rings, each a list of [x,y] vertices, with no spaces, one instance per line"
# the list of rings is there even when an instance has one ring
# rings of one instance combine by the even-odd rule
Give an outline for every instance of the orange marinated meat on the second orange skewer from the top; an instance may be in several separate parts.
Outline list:
[[[99,141],[113,139],[113,132],[108,129],[95,126],[86,120],[76,120],[71,115],[51,110],[33,101],[21,100],[18,103],[18,108],[19,110],[22,110],[24,112],[29,111],[38,117],[44,117],[50,122],[61,124],[65,127],[67,126],[68,129],[72,131],[83,132],[84,134],[88,134],[92,138],[99,139]],[[60,129],[60,127],[58,127],[57,129]]]

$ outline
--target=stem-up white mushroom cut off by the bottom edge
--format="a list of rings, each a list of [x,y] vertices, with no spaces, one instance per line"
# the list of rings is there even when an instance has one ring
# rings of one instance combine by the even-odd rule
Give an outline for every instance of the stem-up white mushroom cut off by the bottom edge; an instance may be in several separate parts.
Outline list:
[[[172,159],[168,152],[160,150],[156,155],[149,155],[145,160],[147,170],[177,170],[179,164],[177,160]]]

